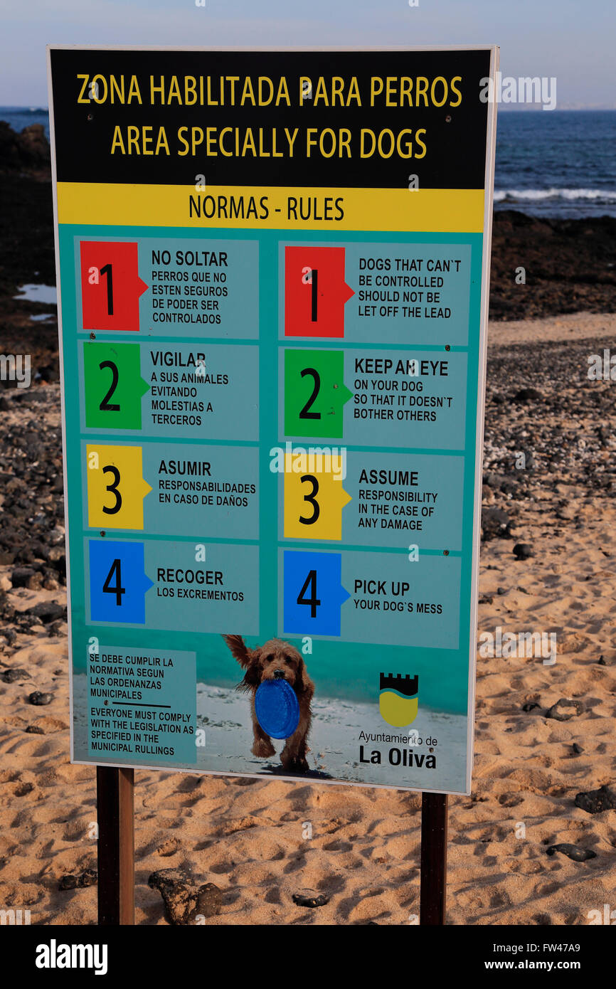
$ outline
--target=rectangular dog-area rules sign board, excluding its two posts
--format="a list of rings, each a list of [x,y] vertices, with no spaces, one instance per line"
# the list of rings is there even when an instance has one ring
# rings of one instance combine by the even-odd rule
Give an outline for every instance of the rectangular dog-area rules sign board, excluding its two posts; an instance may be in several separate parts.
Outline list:
[[[72,761],[469,792],[496,49],[48,65]]]

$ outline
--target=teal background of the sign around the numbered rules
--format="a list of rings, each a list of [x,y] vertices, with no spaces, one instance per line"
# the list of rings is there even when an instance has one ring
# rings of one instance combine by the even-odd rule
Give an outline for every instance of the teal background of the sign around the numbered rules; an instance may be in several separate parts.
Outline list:
[[[111,648],[140,649],[160,651],[174,649],[180,652],[194,653],[196,657],[197,684],[207,685],[207,689],[216,690],[233,687],[239,678],[239,669],[235,660],[226,649],[219,632],[238,632],[244,634],[249,645],[262,643],[273,635],[280,635],[292,641],[297,648],[302,649],[304,635],[285,633],[285,604],[282,598],[284,577],[282,573],[282,558],[285,550],[342,554],[342,586],[350,596],[341,604],[341,637],[330,635],[312,636],[312,653],[306,657],[309,674],[315,682],[316,693],[323,698],[337,698],[342,702],[366,705],[366,711],[373,711],[377,719],[375,724],[381,731],[387,730],[387,725],[379,719],[379,674],[408,672],[419,678],[420,711],[436,712],[439,717],[449,718],[455,725],[449,745],[449,756],[443,752],[443,761],[448,759],[445,775],[439,776],[434,770],[430,780],[427,780],[426,770],[415,771],[406,769],[400,775],[399,770],[391,767],[375,767],[357,765],[357,762],[343,754],[339,765],[328,764],[330,775],[338,779],[367,783],[389,783],[391,785],[413,786],[418,788],[450,788],[463,790],[466,772],[466,736],[468,718],[468,688],[469,688],[469,655],[470,641],[469,615],[471,613],[471,569],[473,547],[473,503],[474,503],[474,474],[476,456],[476,408],[478,402],[479,374],[479,338],[471,332],[467,345],[452,344],[448,349],[445,345],[433,344],[430,339],[424,343],[408,343],[399,341],[399,326],[396,330],[396,341],[383,342],[378,334],[369,340],[370,326],[362,324],[361,342],[353,342],[353,331],[349,339],[323,340],[321,338],[307,340],[280,336],[281,299],[284,298],[282,285],[283,270],[281,269],[281,252],[285,244],[307,244],[310,242],[320,245],[328,241],[322,232],[310,234],[303,231],[301,236],[294,236],[289,231],[262,231],[255,237],[254,232],[234,230],[208,230],[207,237],[201,242],[210,244],[211,238],[220,239],[226,244],[244,238],[251,241],[251,256],[256,255],[254,244],[258,245],[258,288],[250,289],[251,298],[258,297],[258,324],[261,327],[260,336],[250,340],[249,330],[244,327],[241,335],[233,338],[225,333],[224,337],[214,335],[212,327],[207,327],[199,340],[189,333],[182,334],[178,327],[171,336],[167,331],[160,330],[158,336],[153,326],[148,325],[146,335],[138,333],[96,332],[97,343],[138,343],[141,351],[154,349],[173,349],[188,353],[196,349],[205,350],[216,357],[217,368],[230,367],[236,374],[237,389],[232,393],[230,405],[225,405],[224,414],[220,418],[221,438],[210,439],[205,431],[191,430],[181,427],[170,431],[166,427],[155,430],[147,420],[149,399],[147,393],[141,400],[143,413],[140,431],[100,428],[88,429],[84,415],[84,381],[83,381],[83,345],[91,341],[90,332],[80,326],[80,305],[78,301],[78,281],[76,273],[76,246],[82,240],[99,240],[110,237],[113,240],[137,241],[165,244],[177,242],[186,246],[186,241],[199,240],[199,234],[194,230],[184,228],[156,227],[121,227],[110,230],[100,226],[62,226],[59,227],[60,266],[62,284],[62,326],[63,326],[63,375],[66,407],[66,471],[68,479],[68,528],[70,545],[70,584],[71,584],[71,620],[73,672],[75,682],[79,682],[80,674],[84,674],[88,662],[88,643],[92,637],[99,638]],[[177,239],[176,239],[177,238]],[[448,256],[456,254],[457,249],[467,258],[470,282],[465,291],[468,292],[469,302],[466,324],[471,327],[480,325],[480,297],[482,274],[481,234],[371,234],[373,253],[380,249],[387,253],[388,245],[395,240],[396,250],[408,247],[409,253],[417,251],[417,244],[426,243],[431,249],[442,250]],[[340,235],[332,244],[340,244]],[[357,251],[366,247],[365,233],[347,233],[344,243],[348,256],[354,256]],[[436,245],[436,246],[435,246]],[[142,253],[141,246],[139,247]],[[139,272],[147,281],[147,276]],[[349,282],[347,275],[346,281]],[[351,288],[356,286],[351,285]],[[464,291],[456,289],[458,296],[463,299]],[[144,305],[141,297],[141,307]],[[346,304],[355,305],[353,299]],[[350,326],[354,325],[353,320]],[[376,324],[375,324],[376,329]],[[209,332],[213,335],[207,335]],[[459,329],[458,335],[461,330]],[[439,326],[442,338],[442,327]],[[366,337],[366,339],[364,339]],[[453,339],[453,337],[452,337]],[[380,423],[378,420],[366,423],[353,419],[353,400],[345,405],[344,435],[339,439],[316,439],[320,445],[344,446],[348,462],[352,465],[349,478],[343,483],[349,494],[355,494],[352,478],[357,476],[359,459],[383,463],[412,462],[429,460],[427,473],[429,487],[438,491],[441,498],[439,510],[446,513],[442,528],[435,524],[426,529],[427,536],[400,533],[395,540],[390,533],[378,539],[377,534],[370,533],[365,543],[359,544],[355,538],[349,538],[343,530],[343,539],[339,543],[330,541],[312,543],[308,540],[285,539],[282,534],[282,488],[283,480],[279,474],[270,470],[271,449],[285,446],[287,440],[294,445],[310,443],[310,437],[288,436],[284,432],[284,354],[285,349],[300,348],[303,350],[335,350],[344,351],[344,382],[354,391],[354,375],[348,368],[355,355],[372,355],[398,358],[447,359],[452,370],[451,378],[446,386],[443,382],[438,385],[437,392],[443,389],[455,396],[457,403],[456,415],[449,414],[442,423],[437,424],[430,433],[426,423],[414,423],[406,426],[404,423]],[[221,358],[219,359],[219,355]],[[147,362],[141,357],[141,369]],[[219,367],[220,366],[220,367]],[[149,367],[149,365],[148,365]],[[146,379],[146,375],[142,374]],[[239,382],[243,384],[239,387]],[[436,394],[436,393],[435,393]],[[228,393],[229,399],[231,393]],[[434,449],[427,449],[433,440]],[[173,440],[171,440],[173,436]],[[213,457],[220,449],[220,456],[230,465],[231,473],[237,476],[249,474],[257,486],[257,494],[252,499],[252,507],[246,529],[236,529],[232,524],[225,523],[223,510],[204,512],[200,515],[198,509],[191,507],[185,513],[178,508],[173,523],[166,523],[169,518],[169,508],[162,505],[148,504],[146,495],[144,511],[146,524],[143,531],[114,530],[113,518],[110,518],[103,539],[138,542],[145,547],[145,574],[153,581],[153,586],[145,592],[145,622],[143,624],[108,624],[90,620],[90,601],[88,597],[89,579],[87,545],[92,539],[101,540],[100,531],[87,525],[88,507],[86,494],[86,471],[84,467],[84,446],[86,443],[108,441],[113,444],[124,442],[138,443],[143,449],[143,464],[151,465],[159,460],[163,452],[168,455],[169,446],[173,446],[176,456],[182,451],[194,454],[198,445],[204,459],[208,449]],[[164,447],[163,447],[164,443]],[[438,456],[433,454],[437,453]],[[143,476],[152,486],[151,468],[144,469]],[[458,495],[461,494],[461,497]],[[356,500],[343,509],[343,519],[351,515],[345,512],[356,510]],[[348,528],[348,526],[347,526]],[[397,534],[396,534],[397,535]],[[170,541],[171,540],[171,541]],[[156,601],[157,583],[154,570],[157,566],[179,566],[192,559],[194,562],[194,547],[205,544],[208,553],[208,568],[214,569],[226,566],[233,573],[236,583],[242,583],[246,590],[247,599],[243,604],[233,605],[230,611],[220,610],[220,605],[208,609],[199,609],[194,601]],[[408,560],[409,544],[419,545],[419,561]],[[185,550],[182,547],[185,546]],[[445,552],[446,551],[446,552]],[[213,563],[210,564],[210,558]],[[409,623],[408,616],[399,612],[385,617],[383,612],[356,611],[353,605],[353,586],[351,583],[361,574],[373,577],[388,576],[390,580],[408,580],[416,588],[415,597],[440,596],[446,601],[445,613],[438,618],[435,625],[428,615],[417,616],[415,624]],[[243,576],[242,576],[243,575]],[[238,584],[239,585],[239,584]],[[421,591],[419,593],[419,590]],[[411,592],[412,593],[412,592]],[[357,596],[357,595],[356,595]],[[195,615],[199,613],[199,623],[196,627]],[[228,621],[225,619],[228,616]],[[209,623],[208,616],[211,616]],[[202,620],[203,619],[203,620]],[[216,631],[208,631],[208,628]],[[410,629],[412,628],[412,633]],[[436,630],[436,634],[435,634]],[[306,633],[308,634],[308,633]],[[197,724],[207,710],[205,694],[199,692],[197,685]],[[204,687],[205,689],[205,687]],[[76,695],[77,696],[77,695]],[[201,696],[201,701],[200,701]],[[203,704],[202,704],[203,702]],[[247,704],[247,702],[246,702]],[[201,705],[201,706],[200,706]],[[76,719],[80,715],[76,711]],[[371,714],[372,717],[372,714]],[[206,721],[208,720],[206,715]],[[205,724],[205,722],[203,722]],[[247,714],[245,716],[247,724]],[[419,724],[419,721],[417,722]],[[448,722],[449,723],[449,722]],[[242,726],[243,727],[243,726]],[[247,729],[246,729],[247,730]],[[318,717],[314,718],[314,737],[318,731]],[[390,729],[390,731],[393,731]],[[206,736],[207,736],[206,730]],[[212,733],[210,733],[212,734]],[[74,758],[78,761],[100,762],[94,759],[83,741],[83,731],[75,731]],[[246,735],[246,738],[248,736]],[[352,741],[353,752],[357,749],[357,737]],[[223,745],[223,741],[220,743]],[[246,751],[249,741],[246,744]],[[315,745],[313,743],[313,747]],[[194,768],[197,770],[258,772],[263,765],[252,760],[247,765],[244,759],[234,758],[232,753],[225,755],[224,751],[216,748],[209,751],[209,743],[203,749],[195,747],[194,758],[187,758],[184,747],[178,758],[172,762],[178,768]],[[110,758],[114,764],[122,764],[119,758]],[[160,764],[154,760],[139,760],[131,758],[128,764]],[[165,761],[167,763],[168,761]],[[385,771],[383,771],[385,770]],[[414,772],[414,775],[413,775]]]

